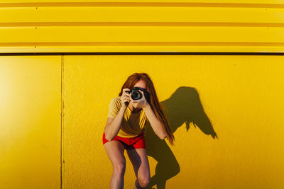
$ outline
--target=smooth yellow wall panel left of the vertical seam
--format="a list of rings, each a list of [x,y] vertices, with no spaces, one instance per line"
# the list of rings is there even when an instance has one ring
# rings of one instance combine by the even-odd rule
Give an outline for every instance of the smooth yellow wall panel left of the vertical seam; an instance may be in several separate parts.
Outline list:
[[[60,188],[61,57],[0,57],[0,188]]]

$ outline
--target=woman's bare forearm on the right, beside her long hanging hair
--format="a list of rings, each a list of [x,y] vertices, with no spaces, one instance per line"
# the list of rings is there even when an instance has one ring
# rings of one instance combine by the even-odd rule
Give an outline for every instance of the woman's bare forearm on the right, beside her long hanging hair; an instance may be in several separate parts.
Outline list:
[[[155,134],[157,134],[157,136],[160,139],[165,139],[165,137],[167,137],[167,135],[165,134],[165,130],[163,128],[163,124],[162,122],[160,122],[160,120],[158,120],[158,118],[155,116],[155,113],[153,112],[151,106],[147,103],[147,105],[143,108],[151,127],[153,128],[153,131],[155,132]]]

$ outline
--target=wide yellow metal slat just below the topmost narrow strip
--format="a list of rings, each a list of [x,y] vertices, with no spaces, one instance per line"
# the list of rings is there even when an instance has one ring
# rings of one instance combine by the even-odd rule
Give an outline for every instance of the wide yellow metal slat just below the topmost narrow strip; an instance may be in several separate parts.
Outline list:
[[[63,6],[1,8],[0,26],[183,25],[271,27],[284,25],[283,8]]]

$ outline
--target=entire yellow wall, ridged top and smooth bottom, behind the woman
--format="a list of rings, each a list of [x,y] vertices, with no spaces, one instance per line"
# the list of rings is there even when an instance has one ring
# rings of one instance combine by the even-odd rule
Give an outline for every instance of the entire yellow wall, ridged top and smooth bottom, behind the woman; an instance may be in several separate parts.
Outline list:
[[[176,137],[148,125],[153,188],[284,188],[283,56],[62,55],[284,52],[284,1],[1,0],[0,15],[0,188],[109,188],[107,108],[136,71]]]

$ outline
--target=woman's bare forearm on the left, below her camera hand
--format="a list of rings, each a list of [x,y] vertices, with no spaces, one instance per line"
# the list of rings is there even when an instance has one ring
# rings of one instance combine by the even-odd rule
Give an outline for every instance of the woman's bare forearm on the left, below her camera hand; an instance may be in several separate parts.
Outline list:
[[[108,141],[111,141],[119,133],[122,119],[124,118],[124,112],[126,108],[121,107],[119,113],[117,113],[115,118],[112,118],[111,122],[107,122],[106,127],[104,127],[104,134]],[[109,119],[108,119],[109,120]]]

